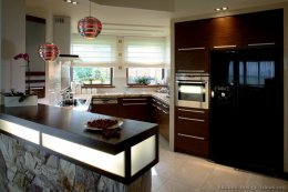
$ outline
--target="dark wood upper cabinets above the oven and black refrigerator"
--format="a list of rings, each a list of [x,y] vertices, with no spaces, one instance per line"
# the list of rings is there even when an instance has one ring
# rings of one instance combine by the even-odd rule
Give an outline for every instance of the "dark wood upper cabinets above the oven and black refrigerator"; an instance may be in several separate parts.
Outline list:
[[[282,9],[175,23],[175,69],[208,72],[209,50],[282,46]]]

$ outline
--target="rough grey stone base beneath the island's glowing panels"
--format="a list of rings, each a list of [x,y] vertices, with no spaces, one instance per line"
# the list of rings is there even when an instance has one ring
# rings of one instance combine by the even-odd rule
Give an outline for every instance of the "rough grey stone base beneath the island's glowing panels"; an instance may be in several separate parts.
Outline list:
[[[4,134],[0,134],[0,149],[1,192],[151,191],[150,171],[125,185]]]

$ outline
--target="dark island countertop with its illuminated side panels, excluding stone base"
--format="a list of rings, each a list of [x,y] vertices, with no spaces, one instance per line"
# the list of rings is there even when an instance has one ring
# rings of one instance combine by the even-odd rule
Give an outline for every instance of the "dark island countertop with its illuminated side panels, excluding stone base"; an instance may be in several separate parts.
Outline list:
[[[1,107],[0,132],[28,141],[63,159],[130,184],[158,162],[158,125],[124,119],[120,131],[121,138],[110,140],[85,130],[88,121],[103,118],[115,119],[44,104],[20,108]],[[49,143],[50,141],[52,143]],[[64,148],[64,144],[68,146]],[[69,153],[71,149],[80,151]],[[83,155],[85,149],[90,150],[86,156]],[[111,156],[106,164],[110,166],[112,163],[112,168],[106,168],[105,163],[102,166],[103,162],[97,163],[102,154]],[[93,160],[93,155],[96,155],[95,161],[90,161],[90,159]],[[119,170],[115,171],[113,168]]]

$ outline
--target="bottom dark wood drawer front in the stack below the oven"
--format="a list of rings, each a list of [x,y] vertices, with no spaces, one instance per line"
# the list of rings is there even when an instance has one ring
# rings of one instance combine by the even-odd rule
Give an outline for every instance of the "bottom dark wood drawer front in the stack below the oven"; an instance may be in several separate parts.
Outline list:
[[[207,140],[200,140],[189,138],[183,134],[176,134],[175,151],[208,158],[209,145]]]

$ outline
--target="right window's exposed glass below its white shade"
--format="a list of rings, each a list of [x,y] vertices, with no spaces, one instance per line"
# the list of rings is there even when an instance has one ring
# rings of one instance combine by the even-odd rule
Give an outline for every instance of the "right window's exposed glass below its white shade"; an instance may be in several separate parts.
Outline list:
[[[162,68],[127,68],[127,84],[156,85],[163,84],[164,69]]]

